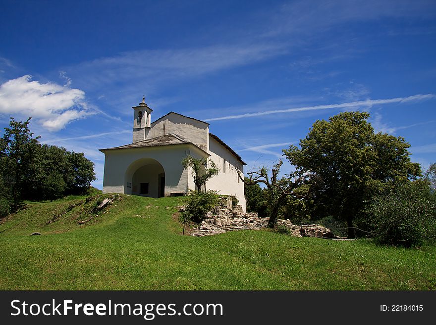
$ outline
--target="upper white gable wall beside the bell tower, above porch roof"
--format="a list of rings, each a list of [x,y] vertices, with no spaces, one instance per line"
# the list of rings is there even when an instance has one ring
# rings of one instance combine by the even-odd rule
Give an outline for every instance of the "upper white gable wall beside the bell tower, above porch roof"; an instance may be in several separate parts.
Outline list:
[[[160,137],[169,133],[174,133],[187,139],[189,142],[199,145],[204,150],[208,147],[209,125],[175,113],[170,113],[162,120],[153,122],[147,139]]]

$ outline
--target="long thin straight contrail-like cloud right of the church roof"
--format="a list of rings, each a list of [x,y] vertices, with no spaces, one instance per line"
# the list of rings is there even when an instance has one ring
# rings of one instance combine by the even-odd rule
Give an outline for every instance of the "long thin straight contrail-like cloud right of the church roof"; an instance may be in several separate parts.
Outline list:
[[[305,106],[305,107],[296,107],[296,108],[288,108],[288,109],[269,110],[264,112],[245,113],[240,115],[228,115],[228,116],[214,117],[210,119],[203,119],[203,121],[210,122],[210,121],[220,121],[220,120],[231,120],[231,119],[240,119],[240,118],[247,118],[247,117],[265,116],[265,115],[278,114],[278,113],[315,111],[315,110],[324,110],[324,109],[332,109],[332,108],[356,109],[359,107],[372,107],[374,105],[380,105],[380,104],[404,103],[404,102],[426,100],[426,99],[433,99],[433,98],[436,98],[436,95],[418,94],[409,97],[397,97],[397,98],[388,98],[388,99],[367,99],[367,100],[359,100],[359,101],[353,101],[353,102],[341,103],[341,104]]]

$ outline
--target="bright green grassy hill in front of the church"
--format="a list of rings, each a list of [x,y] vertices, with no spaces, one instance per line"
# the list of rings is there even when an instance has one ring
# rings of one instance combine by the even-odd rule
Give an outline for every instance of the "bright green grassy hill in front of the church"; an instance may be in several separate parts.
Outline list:
[[[28,203],[3,220],[0,289],[436,288],[434,246],[407,250],[269,231],[182,236],[172,214],[183,197],[121,195],[94,212],[101,199]]]

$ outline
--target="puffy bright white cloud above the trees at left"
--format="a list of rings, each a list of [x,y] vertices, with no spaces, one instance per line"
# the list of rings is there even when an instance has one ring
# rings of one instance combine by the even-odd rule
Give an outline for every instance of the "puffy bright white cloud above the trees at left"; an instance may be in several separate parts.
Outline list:
[[[68,123],[94,114],[85,101],[85,93],[52,82],[31,81],[25,75],[0,85],[0,114],[31,116],[49,131],[63,129]]]

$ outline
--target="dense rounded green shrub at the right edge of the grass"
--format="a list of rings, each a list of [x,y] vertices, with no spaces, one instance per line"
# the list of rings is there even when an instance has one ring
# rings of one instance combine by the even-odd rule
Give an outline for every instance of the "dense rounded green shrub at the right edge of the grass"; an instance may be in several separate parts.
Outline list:
[[[416,247],[435,239],[436,194],[427,182],[415,181],[377,197],[369,210],[381,244]]]

